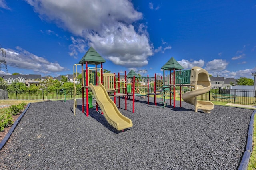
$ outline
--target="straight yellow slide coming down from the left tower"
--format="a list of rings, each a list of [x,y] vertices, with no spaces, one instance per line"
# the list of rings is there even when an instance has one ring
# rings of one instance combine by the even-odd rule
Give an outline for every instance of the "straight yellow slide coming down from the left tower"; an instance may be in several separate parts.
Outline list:
[[[105,87],[102,84],[94,86],[92,83],[90,83],[90,88],[92,89],[96,101],[110,125],[117,130],[124,130],[132,127],[132,120],[120,113],[116,107],[116,104],[110,99]]]

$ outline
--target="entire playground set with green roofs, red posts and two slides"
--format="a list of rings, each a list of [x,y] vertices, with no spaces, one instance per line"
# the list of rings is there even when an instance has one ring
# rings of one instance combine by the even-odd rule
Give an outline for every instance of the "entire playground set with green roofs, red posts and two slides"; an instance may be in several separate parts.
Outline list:
[[[96,98],[96,111],[98,111],[98,105],[102,110],[102,114],[105,116],[106,120],[110,125],[112,125],[117,130],[124,130],[125,128],[132,127],[132,121],[122,115],[116,106],[116,97],[119,99],[120,108],[120,97],[125,99],[125,109],[127,109],[126,100],[127,97],[132,96],[133,100],[133,110],[134,113],[134,102],[135,96],[137,99],[148,97],[154,95],[154,103],[156,103],[157,95],[160,95],[162,107],[166,106],[167,96],[170,96],[171,105],[171,95],[173,95],[173,107],[175,108],[175,89],[176,86],[180,87],[180,107],[181,107],[181,97],[182,99],[195,106],[195,112],[201,109],[205,113],[210,113],[214,108],[212,102],[209,101],[199,101],[197,96],[208,92],[211,88],[210,78],[208,72],[200,67],[193,67],[191,70],[182,70],[183,67],[172,57],[161,69],[163,70],[163,77],[161,79],[154,77],[153,92],[149,88],[150,81],[152,77],[140,77],[133,70],[131,70],[128,75],[124,75],[124,80],[120,81],[120,74],[118,73],[118,81],[116,81],[116,75],[111,73],[103,74],[102,63],[106,62],[92,47],[86,52],[84,57],[79,61],[79,64],[74,65],[74,115],[76,114],[76,86],[75,80],[77,79],[77,66],[82,68],[82,112],[85,113],[84,109],[84,88],[86,92],[86,116],[89,115],[89,90],[94,94]],[[85,64],[85,70],[84,65]],[[101,67],[97,67],[100,64]],[[95,65],[95,67],[88,67],[88,65]],[[178,70],[178,71],[176,71]],[[165,77],[165,72],[167,71],[167,76]],[[159,77],[158,77],[159,78]],[[139,81],[140,79],[140,81]],[[129,81],[130,80],[130,81]],[[144,80],[144,81],[143,81]],[[146,80],[146,81],[145,81]],[[137,81],[137,82],[136,82]],[[89,85],[90,84],[90,85]],[[140,85],[139,85],[140,84]],[[147,90],[142,91],[141,86],[147,87]],[[188,91],[181,94],[182,86],[192,86],[193,91]],[[120,90],[122,89],[122,93]],[[118,91],[118,93],[116,93]],[[114,96],[114,101],[110,99],[109,95]]]

